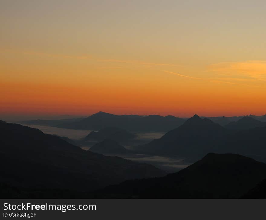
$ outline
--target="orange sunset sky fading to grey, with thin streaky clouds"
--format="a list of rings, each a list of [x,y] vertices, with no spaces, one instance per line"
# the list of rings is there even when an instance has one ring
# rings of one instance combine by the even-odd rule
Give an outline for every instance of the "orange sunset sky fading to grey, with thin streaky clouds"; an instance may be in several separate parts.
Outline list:
[[[266,114],[266,1],[0,1],[0,116]]]

